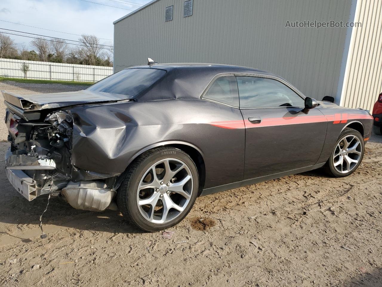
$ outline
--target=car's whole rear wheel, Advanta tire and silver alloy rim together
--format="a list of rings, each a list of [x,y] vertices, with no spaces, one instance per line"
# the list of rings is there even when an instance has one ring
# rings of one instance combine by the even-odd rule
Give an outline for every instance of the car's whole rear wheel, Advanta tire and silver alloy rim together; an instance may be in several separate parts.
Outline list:
[[[122,214],[141,229],[159,231],[179,223],[199,189],[194,161],[182,150],[162,147],[142,154],[118,189]]]

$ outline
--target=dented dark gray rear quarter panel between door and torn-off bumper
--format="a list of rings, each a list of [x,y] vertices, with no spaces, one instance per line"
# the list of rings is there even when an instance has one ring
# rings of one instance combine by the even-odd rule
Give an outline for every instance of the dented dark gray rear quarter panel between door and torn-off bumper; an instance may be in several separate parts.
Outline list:
[[[240,110],[203,100],[163,100],[75,106],[72,163],[97,173],[122,173],[147,147],[183,142],[202,153],[205,187],[243,179],[244,124]],[[217,176],[219,175],[219,176]]]

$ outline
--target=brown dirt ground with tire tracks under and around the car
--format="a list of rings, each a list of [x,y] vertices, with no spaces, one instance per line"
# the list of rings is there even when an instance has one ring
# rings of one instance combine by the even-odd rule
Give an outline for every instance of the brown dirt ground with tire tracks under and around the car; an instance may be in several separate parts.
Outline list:
[[[34,93],[83,87],[0,83]],[[3,100],[0,99],[2,102]],[[3,108],[0,116],[3,118]],[[1,139],[6,138],[4,124]],[[0,157],[8,148],[0,143]],[[199,197],[169,233],[119,212],[26,201],[0,163],[3,286],[382,286],[382,137],[347,178],[312,171]]]

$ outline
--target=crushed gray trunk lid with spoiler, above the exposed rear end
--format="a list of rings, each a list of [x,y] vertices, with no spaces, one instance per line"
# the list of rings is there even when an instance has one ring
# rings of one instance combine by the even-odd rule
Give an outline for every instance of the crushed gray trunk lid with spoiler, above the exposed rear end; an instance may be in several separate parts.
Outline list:
[[[18,95],[7,91],[1,92],[6,102],[24,111],[57,109],[77,104],[110,103],[131,98],[131,96],[126,95],[87,90],[40,95]]]

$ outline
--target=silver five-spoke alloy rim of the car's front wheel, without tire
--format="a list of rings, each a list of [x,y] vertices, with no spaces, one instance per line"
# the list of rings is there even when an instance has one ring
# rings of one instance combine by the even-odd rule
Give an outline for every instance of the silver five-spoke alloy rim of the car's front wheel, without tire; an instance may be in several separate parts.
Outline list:
[[[362,155],[361,141],[355,135],[346,135],[337,144],[333,153],[333,166],[339,173],[350,173]]]

